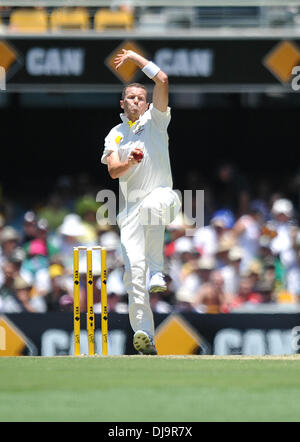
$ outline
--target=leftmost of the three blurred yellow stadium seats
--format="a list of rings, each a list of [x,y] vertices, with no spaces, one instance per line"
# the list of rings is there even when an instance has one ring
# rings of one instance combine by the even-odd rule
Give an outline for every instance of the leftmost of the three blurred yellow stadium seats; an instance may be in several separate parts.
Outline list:
[[[48,30],[48,14],[42,9],[17,9],[9,17],[12,31],[46,32]]]

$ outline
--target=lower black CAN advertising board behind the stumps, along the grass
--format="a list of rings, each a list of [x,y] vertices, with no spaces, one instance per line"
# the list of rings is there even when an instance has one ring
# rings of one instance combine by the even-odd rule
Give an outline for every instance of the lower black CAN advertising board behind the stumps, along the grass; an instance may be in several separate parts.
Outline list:
[[[100,315],[95,315],[95,351],[101,354]],[[82,314],[81,353],[88,354]],[[154,314],[160,355],[286,355],[300,351],[300,313]],[[108,318],[109,355],[135,354],[128,314]],[[58,356],[74,351],[71,312],[0,315],[0,357]]]

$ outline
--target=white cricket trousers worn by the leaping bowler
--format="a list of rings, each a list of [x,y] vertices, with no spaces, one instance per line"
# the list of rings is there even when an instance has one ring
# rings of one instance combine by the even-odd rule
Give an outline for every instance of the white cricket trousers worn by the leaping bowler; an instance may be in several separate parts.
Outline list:
[[[150,275],[163,271],[165,226],[174,220],[180,207],[176,192],[168,187],[159,187],[120,223],[124,284],[134,332],[143,330],[154,336],[153,313],[146,288],[147,270]]]

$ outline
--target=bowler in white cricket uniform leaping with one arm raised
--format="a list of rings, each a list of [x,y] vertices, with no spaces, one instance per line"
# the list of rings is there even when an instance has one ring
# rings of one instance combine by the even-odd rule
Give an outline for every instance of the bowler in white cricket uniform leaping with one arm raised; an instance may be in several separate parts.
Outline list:
[[[180,210],[172,190],[167,128],[168,77],[154,63],[133,51],[122,50],[115,58],[118,69],[134,62],[154,83],[153,103],[139,83],[125,87],[120,101],[122,123],[105,138],[101,162],[112,178],[119,178],[123,206],[118,215],[125,264],[124,283],[128,293],[133,344],[142,354],[157,354],[153,337],[153,313],[146,288],[150,272],[150,294],[166,291],[163,275],[165,225]],[[138,158],[137,155],[142,155]]]

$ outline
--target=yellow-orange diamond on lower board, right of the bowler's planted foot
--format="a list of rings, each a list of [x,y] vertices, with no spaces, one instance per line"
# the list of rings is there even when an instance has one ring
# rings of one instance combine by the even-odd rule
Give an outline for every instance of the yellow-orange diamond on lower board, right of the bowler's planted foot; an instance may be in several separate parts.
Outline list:
[[[195,354],[201,337],[179,315],[171,315],[158,327],[155,346],[159,355]]]

